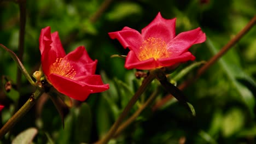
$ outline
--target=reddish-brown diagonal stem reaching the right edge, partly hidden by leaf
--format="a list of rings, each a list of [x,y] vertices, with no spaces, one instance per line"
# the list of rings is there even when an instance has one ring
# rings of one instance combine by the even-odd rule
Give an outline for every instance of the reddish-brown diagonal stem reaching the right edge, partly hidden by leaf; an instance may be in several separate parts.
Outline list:
[[[184,88],[191,85],[191,83],[195,82],[205,71],[210,68],[214,63],[218,61],[220,57],[222,57],[232,46],[234,46],[242,37],[245,35],[256,23],[256,16],[252,18],[251,21],[242,29],[233,39],[229,41],[228,44],[222,47],[222,49],[214,55],[205,65],[203,65],[196,73],[196,76],[193,79],[189,79],[183,82],[181,85],[178,86],[179,89],[183,90]],[[173,96],[171,94],[167,95],[165,98],[161,99],[156,103],[153,107],[153,111],[159,109],[162,105],[166,104],[167,101],[172,99]]]

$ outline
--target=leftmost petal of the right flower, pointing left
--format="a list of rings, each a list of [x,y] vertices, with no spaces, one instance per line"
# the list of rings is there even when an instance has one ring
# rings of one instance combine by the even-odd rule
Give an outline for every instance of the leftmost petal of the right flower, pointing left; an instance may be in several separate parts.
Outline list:
[[[124,27],[121,31],[111,32],[108,34],[110,38],[118,39],[125,49],[128,47],[130,50],[135,52],[139,51],[139,47],[141,47],[144,41],[138,31],[129,27]]]

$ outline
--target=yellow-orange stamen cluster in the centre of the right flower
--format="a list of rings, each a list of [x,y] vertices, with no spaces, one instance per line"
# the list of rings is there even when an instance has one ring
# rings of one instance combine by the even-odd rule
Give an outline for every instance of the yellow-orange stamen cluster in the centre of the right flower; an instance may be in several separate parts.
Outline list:
[[[148,38],[144,40],[139,49],[141,49],[141,52],[139,52],[138,58],[141,61],[149,58],[154,58],[155,60],[167,58],[171,54],[171,52],[167,51],[167,45],[161,38]]]

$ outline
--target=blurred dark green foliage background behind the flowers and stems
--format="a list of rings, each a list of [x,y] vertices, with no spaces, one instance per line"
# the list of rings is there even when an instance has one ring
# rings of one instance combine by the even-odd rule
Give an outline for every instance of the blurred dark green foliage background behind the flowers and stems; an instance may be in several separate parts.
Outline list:
[[[97,11],[108,3],[98,17]],[[130,100],[142,80],[136,70],[126,70],[125,60],[111,55],[127,55],[108,32],[128,26],[141,32],[158,12],[165,19],[177,17],[176,34],[201,27],[206,43],[194,45],[190,51],[196,61],[207,61],[233,38],[256,14],[254,0],[174,0],[174,1],[26,1],[24,65],[31,75],[40,66],[39,35],[46,26],[58,31],[66,53],[84,45],[92,59],[98,59],[97,74],[110,89],[91,94],[84,103],[75,102],[67,110],[65,128],[53,102],[43,95],[36,106],[2,139],[10,143],[21,131],[35,127],[34,143],[92,143],[100,139]],[[0,43],[18,52],[19,5],[0,1]],[[193,62],[182,64],[171,76]],[[25,77],[18,91],[4,91],[5,80],[16,82],[17,66],[10,55],[0,49],[0,104],[5,105],[3,125],[30,97],[34,89]],[[195,76],[196,69],[177,81]],[[144,110],[119,137],[110,143],[256,143],[256,27],[253,27],[220,61],[199,80],[184,90],[195,107],[196,117],[171,100],[159,110]],[[131,111],[134,113],[159,82],[154,81]],[[167,92],[159,88],[156,101]]]

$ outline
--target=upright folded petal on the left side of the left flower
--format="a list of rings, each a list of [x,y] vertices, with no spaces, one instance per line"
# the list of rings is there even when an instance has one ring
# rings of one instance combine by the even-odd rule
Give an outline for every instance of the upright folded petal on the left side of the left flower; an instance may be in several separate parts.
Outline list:
[[[56,58],[62,58],[66,55],[59,34],[57,32],[51,34],[50,31],[50,27],[43,28],[39,37],[42,68],[46,76],[49,75],[50,65],[56,61]]]

